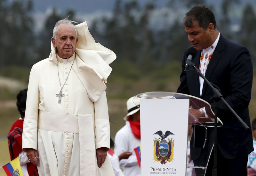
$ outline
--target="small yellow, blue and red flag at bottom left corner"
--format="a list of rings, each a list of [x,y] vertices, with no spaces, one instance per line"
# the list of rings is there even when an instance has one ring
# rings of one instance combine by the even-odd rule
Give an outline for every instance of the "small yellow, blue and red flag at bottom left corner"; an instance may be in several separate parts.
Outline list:
[[[13,159],[10,163],[3,166],[3,169],[7,176],[19,175],[23,176],[19,157]]]

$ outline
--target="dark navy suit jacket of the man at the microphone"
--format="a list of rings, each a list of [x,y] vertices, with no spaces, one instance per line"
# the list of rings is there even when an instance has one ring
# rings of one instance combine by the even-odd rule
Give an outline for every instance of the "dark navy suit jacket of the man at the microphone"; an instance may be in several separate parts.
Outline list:
[[[201,51],[197,51],[195,58],[192,59],[197,68],[199,68],[200,55]],[[213,96],[212,89],[204,81],[202,97],[200,96],[199,76],[196,71],[184,71],[186,60],[184,54],[180,86],[177,92],[206,100],[211,104],[214,111],[213,102],[210,100]],[[191,66],[187,70],[190,69],[192,69]],[[225,39],[220,34],[220,39],[209,62],[205,77],[220,88],[223,98],[240,118],[251,127],[248,105],[252,90],[252,62],[249,51],[245,47]],[[249,154],[253,150],[251,129],[245,130],[221,101],[218,108],[218,117],[223,122],[223,126],[218,128],[217,135],[218,146],[222,155],[225,158],[232,159]],[[193,157],[192,153],[191,157]]]

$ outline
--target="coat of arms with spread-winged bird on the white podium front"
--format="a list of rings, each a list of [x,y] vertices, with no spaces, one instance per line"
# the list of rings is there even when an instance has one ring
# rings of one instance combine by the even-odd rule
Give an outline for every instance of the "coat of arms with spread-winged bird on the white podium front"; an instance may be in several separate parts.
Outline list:
[[[165,139],[169,135],[174,135],[171,131],[166,131],[163,134],[162,131],[157,131],[154,135],[159,135],[159,138],[154,140],[154,159],[159,161],[162,165],[166,164],[167,161],[171,162],[173,159],[173,142],[171,138]]]

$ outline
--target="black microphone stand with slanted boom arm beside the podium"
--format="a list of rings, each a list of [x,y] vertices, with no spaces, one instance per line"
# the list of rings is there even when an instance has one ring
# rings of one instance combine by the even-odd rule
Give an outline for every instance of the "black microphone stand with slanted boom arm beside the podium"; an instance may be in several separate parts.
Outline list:
[[[236,114],[236,112],[232,109],[231,106],[229,106],[229,104],[227,103],[227,101],[223,98],[223,95],[220,93],[220,89],[217,89],[215,87],[213,87],[213,85],[210,83],[210,81],[208,81],[208,79],[206,79],[206,77],[204,77],[204,75],[199,71],[199,69],[196,67],[196,64],[193,63],[191,61],[191,59],[187,59],[186,63],[189,66],[192,66],[194,70],[196,70],[197,74],[202,77],[204,79],[204,81],[206,81],[206,83],[212,88],[212,91],[214,93],[213,97],[211,97],[211,100],[213,100],[213,106],[214,106],[214,130],[213,130],[213,134],[214,134],[214,153],[213,153],[213,169],[212,169],[212,175],[213,176],[217,176],[217,114],[218,114],[218,106],[219,106],[219,102],[220,100],[222,100],[224,102],[224,104],[228,107],[228,109],[232,112],[232,114],[234,114],[236,116],[236,118],[241,122],[241,124],[243,125],[243,127],[245,129],[249,129],[249,127],[247,126],[247,124],[242,121],[242,119]],[[185,68],[184,71],[186,71],[187,68]]]

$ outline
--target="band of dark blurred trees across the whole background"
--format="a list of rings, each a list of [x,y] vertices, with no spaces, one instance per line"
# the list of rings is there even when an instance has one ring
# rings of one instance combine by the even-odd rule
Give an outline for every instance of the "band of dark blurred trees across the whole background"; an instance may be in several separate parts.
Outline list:
[[[196,4],[207,5],[208,1],[167,1],[166,12],[157,19],[163,27],[152,22],[157,11],[156,2],[148,1],[143,6],[138,2],[116,0],[111,18],[102,17],[100,20],[89,21],[89,30],[96,42],[116,53],[116,63],[125,61],[137,64],[144,74],[152,71],[154,67],[180,62],[184,50],[190,46],[182,22],[185,11]],[[248,4],[243,10],[240,30],[232,30],[231,9],[239,2],[240,0],[222,1],[217,28],[230,40],[246,46],[256,64],[256,15],[252,5]],[[180,8],[181,6],[185,9]],[[53,8],[46,17],[42,30],[35,33],[32,10],[32,0],[0,0],[0,69],[16,64],[30,67],[48,57],[55,23],[68,15],[69,19],[77,20],[72,9],[60,14]],[[181,10],[184,13],[177,15]]]

